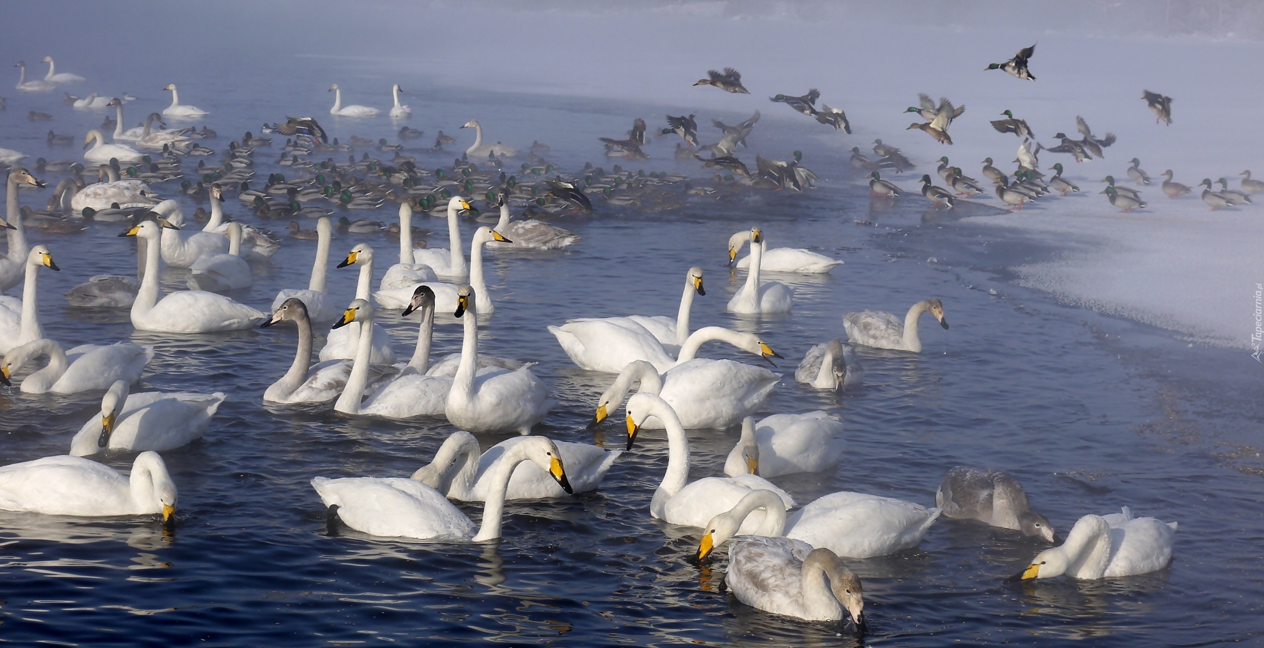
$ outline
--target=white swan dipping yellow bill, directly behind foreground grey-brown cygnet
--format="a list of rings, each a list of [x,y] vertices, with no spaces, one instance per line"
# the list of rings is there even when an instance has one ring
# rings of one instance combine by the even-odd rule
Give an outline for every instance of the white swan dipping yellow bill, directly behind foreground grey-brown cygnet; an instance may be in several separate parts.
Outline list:
[[[824,547],[849,558],[871,558],[910,549],[921,543],[940,509],[865,493],[839,491],[810,501],[786,518],[776,493],[753,491],[710,518],[703,527],[698,556],[707,557],[728,538],[746,533],[751,517],[760,536],[785,536]]]

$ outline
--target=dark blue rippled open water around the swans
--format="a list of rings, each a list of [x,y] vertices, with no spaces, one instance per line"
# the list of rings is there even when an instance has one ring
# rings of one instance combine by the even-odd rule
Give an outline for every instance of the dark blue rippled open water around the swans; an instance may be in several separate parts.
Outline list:
[[[329,82],[327,75],[305,75],[263,96],[246,88],[219,96],[182,90],[182,99],[211,111],[206,123],[220,138],[204,144],[222,150],[260,121],[325,115],[317,104],[296,109],[287,99],[289,85]],[[159,87],[153,80],[149,85]],[[166,101],[157,92],[135,93],[142,100],[129,104],[129,121]],[[411,125],[427,131],[415,141],[428,143],[436,129],[453,133],[478,117],[492,139],[550,143],[564,172],[585,160],[609,168],[617,160],[600,159],[593,138],[617,135],[635,116],[657,124],[664,111],[471,92],[422,93],[410,102]],[[58,133],[82,134],[101,119],[72,112],[53,97],[10,97],[8,111],[0,112],[0,143],[48,159],[77,159],[78,150],[47,148],[44,124],[25,120],[32,109],[54,111]],[[321,119],[331,136],[343,139],[393,140],[398,130],[386,117]],[[134,390],[222,390],[230,398],[204,440],[163,453],[179,488],[173,529],[153,519],[0,517],[6,575],[0,640],[1066,645],[1088,639],[1091,645],[1136,647],[1264,640],[1264,471],[1255,441],[1261,389],[1246,354],[1187,347],[1170,333],[1059,306],[1007,283],[1006,268],[1047,255],[1050,244],[1062,241],[1016,240],[957,225],[952,216],[927,212],[915,193],[894,205],[871,202],[838,149],[823,147],[819,135],[767,120],[752,136],[752,147],[769,157],[804,150],[804,164],[823,178],[817,191],[753,192],[724,202],[694,197],[686,207],[661,213],[598,200],[592,217],[562,222],[583,236],[573,249],[489,254],[497,312],[482,331],[480,349],[538,363],[535,371],[559,405],[537,433],[623,446],[618,416],[595,431],[585,428],[612,376],[575,369],[545,327],[581,316],[675,313],[683,274],[700,265],[708,294],[695,302],[694,326],[756,331],[786,356],[777,369],[782,380],[761,414],[824,409],[846,422],[848,450],[837,470],[774,480],[800,503],[858,490],[930,505],[949,467],[994,466],[1019,476],[1034,507],[1063,532],[1083,514],[1122,505],[1179,522],[1169,568],[1103,582],[1007,584],[1039,544],[942,519],[915,551],[848,561],[865,582],[866,637],[838,624],[779,618],[746,608],[726,591],[726,551],[699,567],[690,561],[695,531],[650,518],[650,498],[666,465],[666,438],[653,431],[618,460],[600,490],[511,503],[499,542],[368,537],[326,518],[311,477],[406,476],[428,462],[454,428],[445,419],[388,422],[348,418],[325,407],[263,405],[264,388],[292,359],[292,327],[162,336],[134,332],[125,312],[70,308],[61,298],[70,287],[134,267],[134,244],[116,237],[119,226],[95,224],[75,235],[29,234],[33,243],[49,245],[62,268],[40,274],[47,335],[67,346],[152,344],[157,355]],[[449,148],[459,150],[468,141]],[[642,165],[676,171],[674,145],[669,138],[651,144],[653,159]],[[257,184],[269,172],[293,176],[274,164],[278,148],[255,154]],[[451,158],[418,162],[435,167]],[[699,173],[694,164],[679,169]],[[53,186],[59,177],[43,179]],[[913,184],[910,178],[900,182]],[[159,191],[173,195],[174,183]],[[39,206],[48,195],[23,192],[23,201]],[[186,213],[198,206],[181,200]],[[1073,200],[1079,198],[1067,203]],[[260,224],[235,196],[225,205],[245,222]],[[389,221],[394,207],[348,215]],[[417,221],[437,232],[431,243],[446,245],[444,220]],[[286,222],[262,225],[283,231]],[[724,304],[744,275],[729,273],[724,245],[751,225],[762,225],[772,246],[808,246],[846,263],[824,278],[777,277],[795,282],[789,318],[734,317]],[[463,225],[466,240],[475,226]],[[362,241],[382,256],[397,249],[386,236],[340,235],[332,255]],[[257,269],[254,287],[236,298],[267,308],[278,289],[305,287],[313,250],[315,241],[286,239],[272,264]],[[379,263],[379,277],[383,268]],[[182,288],[185,273],[164,269],[164,287]],[[354,280],[354,269],[330,269],[330,289],[339,299],[351,298]],[[902,313],[928,297],[943,299],[952,328],[928,326],[924,318],[920,355],[861,349],[865,384],[841,395],[794,383],[794,366],[809,346],[844,337],[843,312]],[[397,350],[410,354],[416,325],[394,313],[382,320]],[[454,351],[460,326],[441,316],[435,335],[437,354]],[[751,361],[719,345],[705,347],[704,355]],[[66,452],[73,432],[97,412],[99,397],[5,390],[0,461]],[[503,438],[482,436],[480,442],[487,447]],[[691,432],[691,477],[720,474],[736,440],[736,429]],[[105,461],[126,469],[131,459]],[[460,508],[478,519],[482,505]]]

